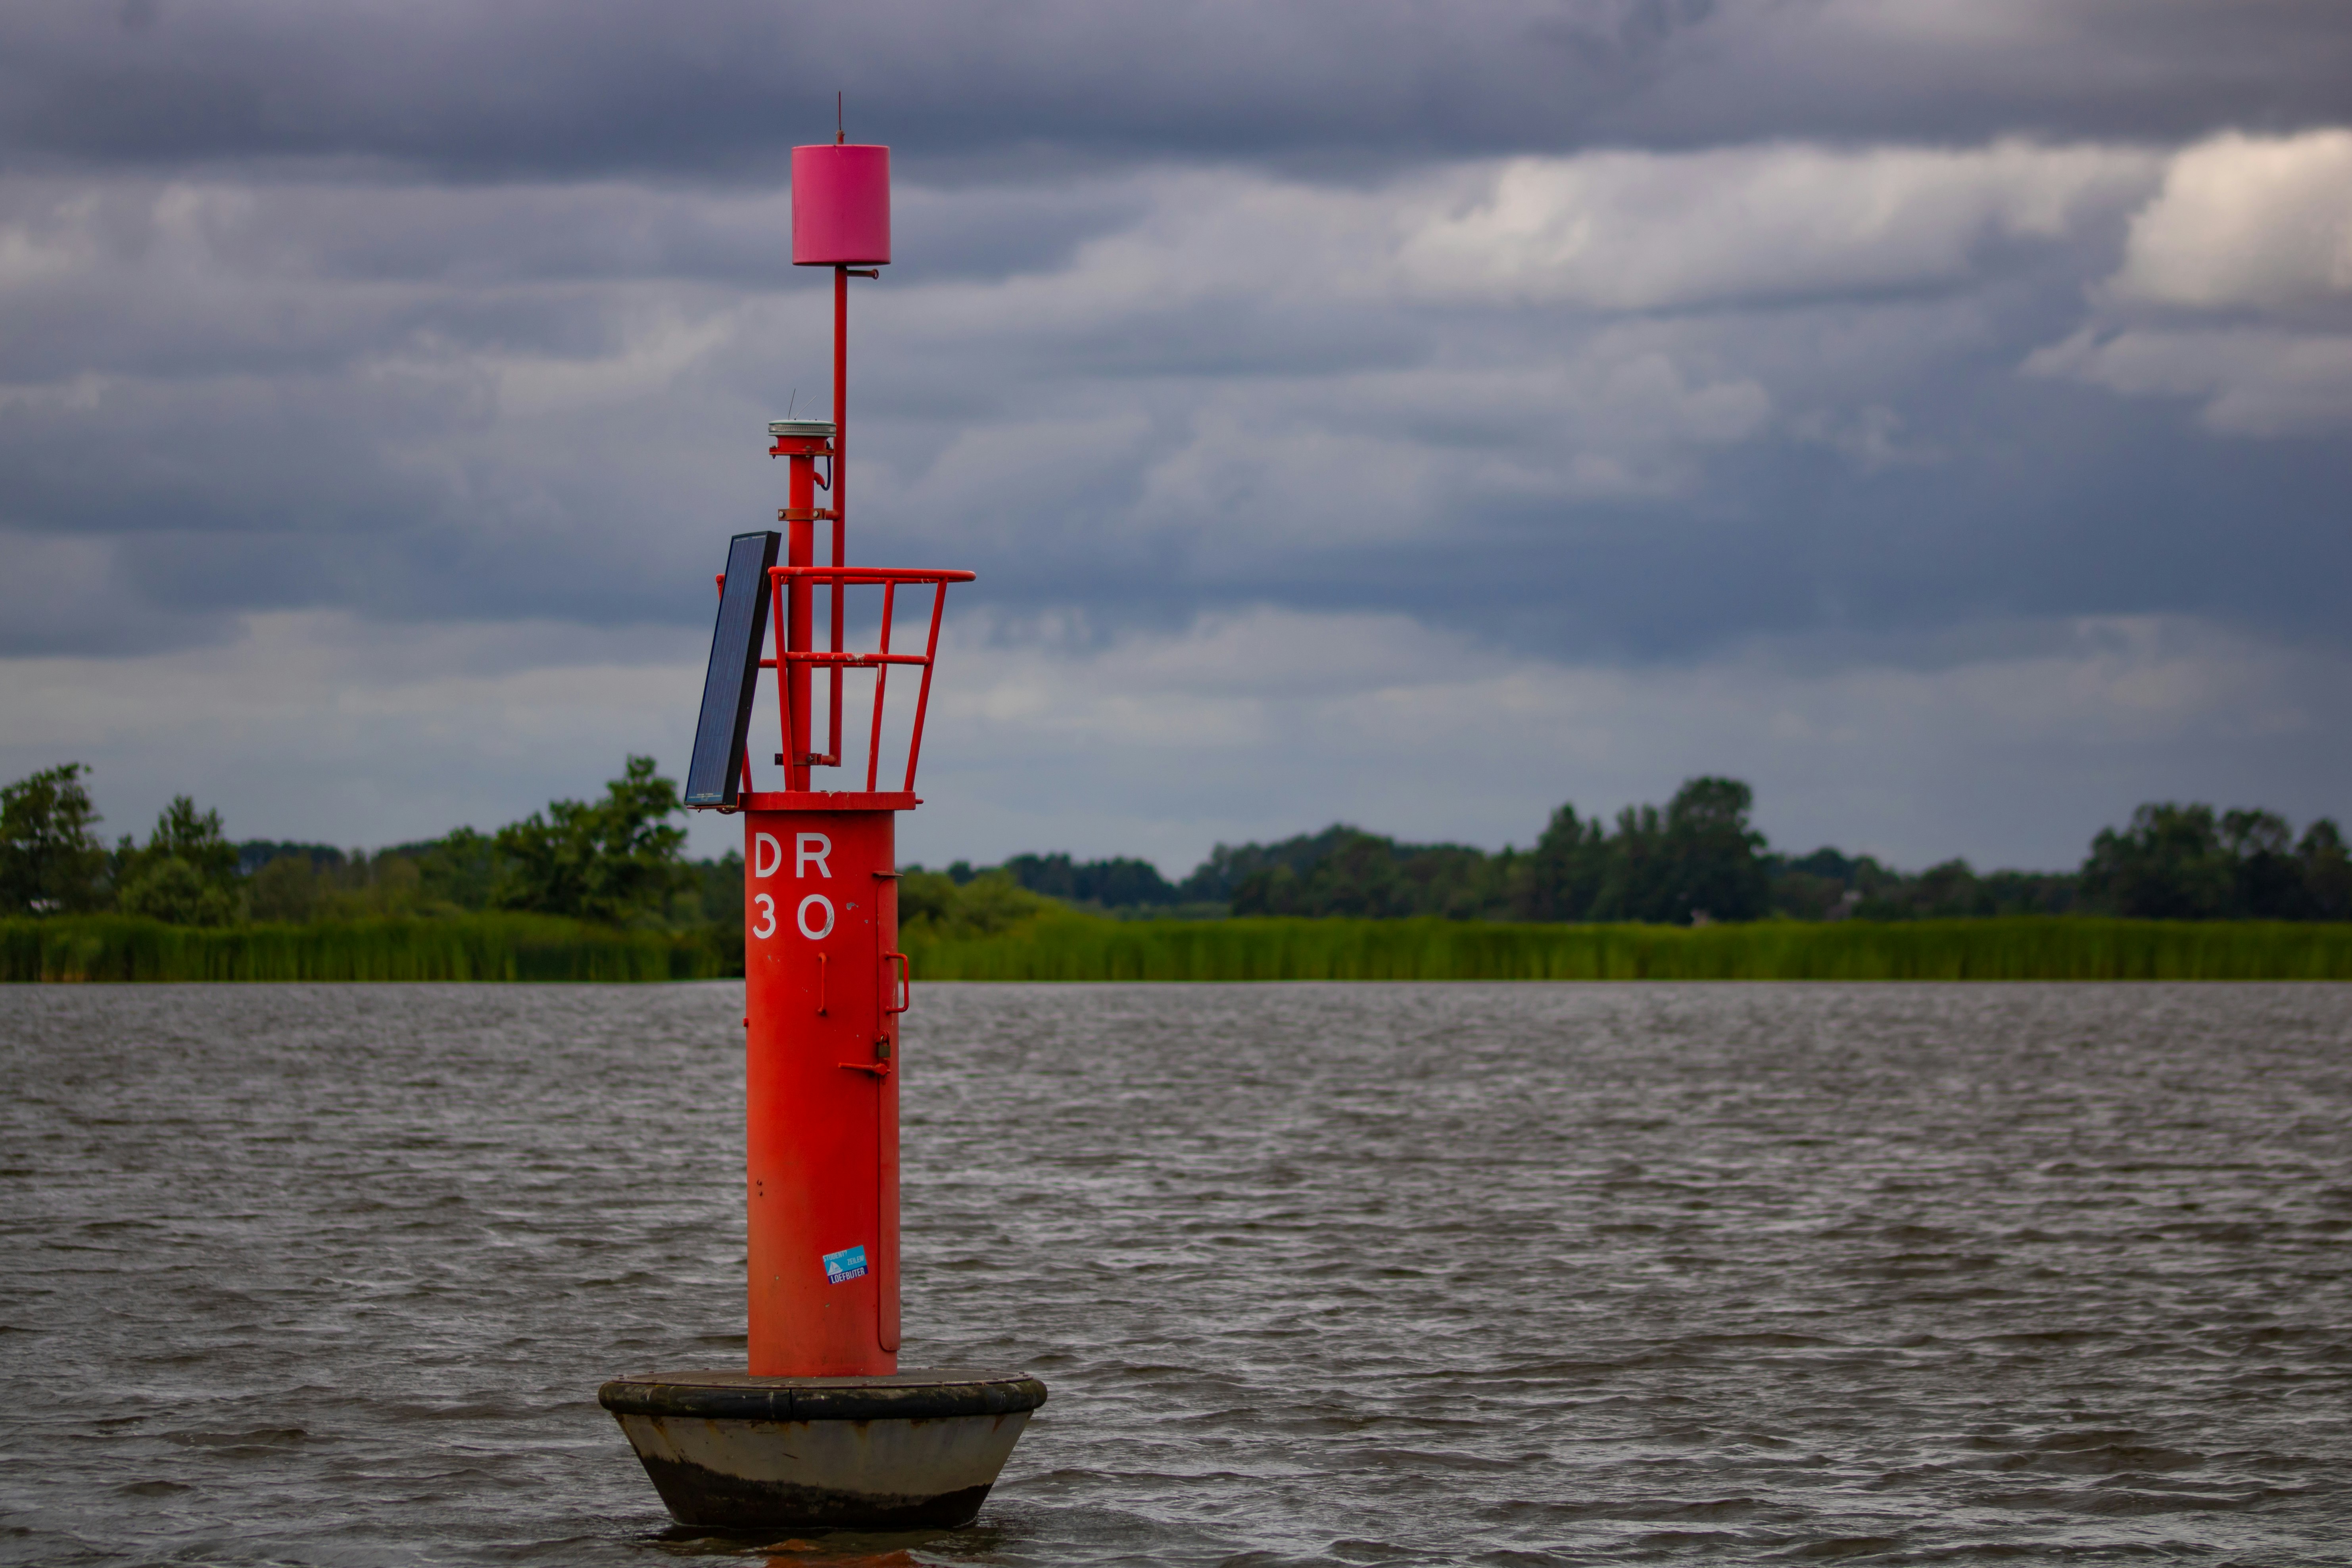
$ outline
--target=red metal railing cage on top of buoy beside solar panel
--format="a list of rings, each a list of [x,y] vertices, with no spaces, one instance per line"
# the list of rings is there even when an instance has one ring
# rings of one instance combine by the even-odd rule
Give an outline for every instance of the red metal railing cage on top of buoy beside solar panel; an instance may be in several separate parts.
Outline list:
[[[915,722],[908,729],[906,741],[906,778],[898,785],[903,792],[915,792],[915,766],[922,762],[922,722],[931,710],[931,665],[938,658],[938,621],[948,607],[948,583],[969,583],[976,574],[971,571],[924,571],[913,567],[769,567],[769,625],[774,628],[776,651],[760,661],[762,670],[776,670],[776,708],[779,708],[779,738],[783,750],[776,762],[786,766],[786,792],[809,790],[809,769],[837,769],[842,766],[842,677],[849,670],[873,670],[873,703],[866,724],[866,792],[873,795],[880,788],[882,776],[882,712],[889,698],[889,672],[891,665],[915,665],[922,670],[922,679],[915,686]],[[724,581],[724,578],[722,578]],[[828,649],[795,649],[790,646],[793,625],[793,597],[795,590],[807,592],[809,599],[816,588],[833,588],[833,628]],[[882,614],[875,625],[875,646],[870,654],[856,654],[842,646],[847,632],[847,592],[851,588],[880,588],[882,590]],[[929,588],[929,625],[922,637],[922,654],[898,654],[891,649],[891,630],[898,614],[898,588]],[[800,609],[802,625],[809,623],[809,604],[802,602]],[[814,628],[811,628],[814,630]],[[811,729],[814,712],[804,712],[804,705],[814,705],[814,675],[823,670],[828,675],[828,724],[826,724],[826,750],[811,750],[807,745],[793,743],[795,736],[807,736]],[[793,679],[804,675],[804,679]],[[750,792],[750,748],[743,750],[743,790]]]

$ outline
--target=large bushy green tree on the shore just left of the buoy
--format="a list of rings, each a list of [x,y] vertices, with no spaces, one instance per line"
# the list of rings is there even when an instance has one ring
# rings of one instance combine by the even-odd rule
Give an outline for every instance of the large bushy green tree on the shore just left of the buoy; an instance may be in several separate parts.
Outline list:
[[[604,799],[548,802],[546,813],[499,830],[492,903],[607,924],[661,919],[670,893],[691,879],[680,860],[687,830],[670,820],[682,813],[677,783],[656,773],[652,757],[630,757]]]

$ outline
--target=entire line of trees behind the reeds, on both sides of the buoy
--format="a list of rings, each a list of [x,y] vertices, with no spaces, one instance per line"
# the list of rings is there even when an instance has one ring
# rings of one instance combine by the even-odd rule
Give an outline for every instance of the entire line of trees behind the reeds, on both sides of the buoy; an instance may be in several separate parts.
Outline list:
[[[1531,849],[1406,844],[1334,823],[1275,844],[1218,844],[1169,882],[1141,858],[1014,856],[943,872],[906,867],[901,917],[995,933],[1058,905],[1108,914],[1444,917],[1710,924],[1750,919],[2352,919],[2352,858],[2331,818],[2300,835],[2274,811],[2145,804],[2091,839],[2072,872],[1898,872],[1870,856],[1773,851],[1755,790],[1691,778],[1663,806],[1613,820],[1552,811]],[[68,762],[0,785],[0,914],[143,914],[186,926],[369,914],[524,910],[609,926],[734,929],[743,858],[684,858],[684,804],[652,757],[628,757],[597,799],[555,799],[494,832],[343,851],[230,842],[221,813],[174,797],[141,844],[106,844],[87,769]]]

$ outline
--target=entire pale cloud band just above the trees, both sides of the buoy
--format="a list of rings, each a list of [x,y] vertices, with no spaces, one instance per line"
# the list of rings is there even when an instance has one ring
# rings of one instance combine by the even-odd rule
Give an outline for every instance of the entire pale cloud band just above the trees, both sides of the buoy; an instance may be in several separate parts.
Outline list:
[[[1526,844],[1562,799],[1609,813],[1731,773],[1757,785],[1780,846],[2072,865],[2140,799],[2303,820],[2345,813],[2352,771],[2340,654],[2185,618],[2016,625],[1933,661],[1759,642],[1668,668],[1279,607],[1101,644],[953,602],[948,625],[927,804],[901,825],[903,853],[927,863],[1070,849],[1183,872],[1218,839],[1331,820]],[[701,651],[654,630],[299,614],[195,654],[0,661],[0,776],[96,764],[111,832],[146,832],[183,790],[223,806],[238,837],[492,827],[593,795],[626,752],[675,776]],[[908,698],[910,682],[894,708]],[[717,853],[734,832],[699,818],[694,846]]]

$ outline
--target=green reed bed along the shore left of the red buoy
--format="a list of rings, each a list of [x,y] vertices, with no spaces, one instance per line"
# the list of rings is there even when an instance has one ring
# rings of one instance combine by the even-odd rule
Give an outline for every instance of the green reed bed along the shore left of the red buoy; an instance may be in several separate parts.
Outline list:
[[[731,961],[729,961],[731,959]],[[548,914],[167,926],[125,914],[0,922],[0,980],[699,980],[743,973],[715,931]]]

